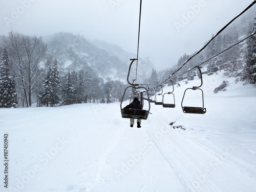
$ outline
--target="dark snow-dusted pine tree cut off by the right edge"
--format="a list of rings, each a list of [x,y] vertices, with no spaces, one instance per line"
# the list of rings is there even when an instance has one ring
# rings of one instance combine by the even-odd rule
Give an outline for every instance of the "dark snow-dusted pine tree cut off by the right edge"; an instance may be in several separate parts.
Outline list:
[[[250,35],[256,33],[256,17],[254,18],[253,29],[250,31]],[[256,83],[256,34],[248,39],[248,53],[246,55],[246,71],[247,78],[251,84]]]

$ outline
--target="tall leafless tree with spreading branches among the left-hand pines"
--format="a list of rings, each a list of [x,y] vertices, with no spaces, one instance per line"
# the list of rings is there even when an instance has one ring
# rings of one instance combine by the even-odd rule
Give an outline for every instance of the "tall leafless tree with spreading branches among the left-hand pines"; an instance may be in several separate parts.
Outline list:
[[[17,32],[10,32],[4,39],[5,46],[10,52],[17,77],[20,80],[20,86],[23,89],[26,105],[31,106],[32,92],[36,89],[36,84],[45,70],[39,71],[39,64],[46,59],[47,44],[42,42],[41,38],[36,36],[27,36]],[[51,62],[48,59],[45,62],[47,68]]]

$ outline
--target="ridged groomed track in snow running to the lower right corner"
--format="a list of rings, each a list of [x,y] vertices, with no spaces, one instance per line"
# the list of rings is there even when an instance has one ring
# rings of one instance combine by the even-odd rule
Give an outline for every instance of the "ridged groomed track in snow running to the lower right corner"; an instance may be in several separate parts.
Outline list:
[[[168,126],[161,109],[154,110],[158,115],[147,133],[187,191],[255,191],[255,174],[243,173],[241,169],[247,169],[228,157],[233,149],[229,147],[218,157],[214,151],[184,137],[183,131]],[[156,139],[156,135],[160,138]]]

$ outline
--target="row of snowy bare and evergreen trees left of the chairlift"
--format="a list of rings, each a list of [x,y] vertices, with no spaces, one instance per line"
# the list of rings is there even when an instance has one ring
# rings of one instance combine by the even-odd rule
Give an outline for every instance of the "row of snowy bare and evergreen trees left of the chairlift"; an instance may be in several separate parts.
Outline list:
[[[2,47],[2,48],[1,48]],[[0,107],[37,107],[120,101],[125,84],[80,69],[59,75],[41,37],[10,32],[0,46]]]

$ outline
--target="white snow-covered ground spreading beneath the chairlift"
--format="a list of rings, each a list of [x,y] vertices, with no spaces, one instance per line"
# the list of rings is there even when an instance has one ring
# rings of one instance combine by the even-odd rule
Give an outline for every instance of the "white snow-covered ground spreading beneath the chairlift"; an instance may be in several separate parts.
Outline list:
[[[0,109],[1,159],[9,134],[0,191],[254,192],[256,88],[229,78],[227,91],[213,93],[224,79],[203,76],[205,114],[180,105],[200,80],[179,82],[176,108],[152,104],[140,129],[121,118],[118,102]],[[201,107],[201,93],[190,91],[184,103]],[[4,169],[2,160],[2,181]]]

